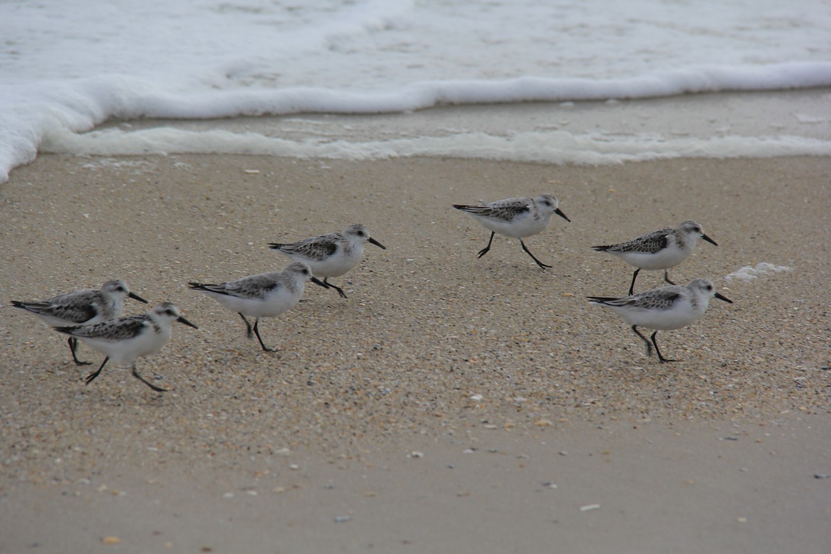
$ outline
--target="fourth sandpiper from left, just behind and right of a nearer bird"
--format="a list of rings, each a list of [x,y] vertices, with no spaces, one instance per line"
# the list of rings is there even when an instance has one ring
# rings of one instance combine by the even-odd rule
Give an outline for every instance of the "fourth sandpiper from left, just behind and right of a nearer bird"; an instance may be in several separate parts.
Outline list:
[[[295,262],[305,262],[312,268],[312,275],[322,277],[323,286],[333,288],[346,298],[341,287],[329,282],[329,277],[341,277],[361,261],[366,243],[375,244],[386,250],[386,246],[369,236],[361,223],[352,223],[343,233],[327,233],[319,237],[304,238],[297,243],[268,243]]]

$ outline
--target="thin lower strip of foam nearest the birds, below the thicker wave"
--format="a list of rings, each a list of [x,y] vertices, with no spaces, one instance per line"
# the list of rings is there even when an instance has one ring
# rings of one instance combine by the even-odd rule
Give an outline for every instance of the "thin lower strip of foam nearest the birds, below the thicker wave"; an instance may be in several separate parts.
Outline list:
[[[620,164],[629,161],[688,158],[831,155],[831,141],[804,137],[667,138],[644,135],[575,135],[532,131],[512,135],[456,133],[391,140],[288,140],[227,130],[191,131],[171,127],[125,131],[108,129],[77,135],[47,134],[42,150],[55,154],[258,154],[299,158],[385,159],[453,156],[553,164]]]

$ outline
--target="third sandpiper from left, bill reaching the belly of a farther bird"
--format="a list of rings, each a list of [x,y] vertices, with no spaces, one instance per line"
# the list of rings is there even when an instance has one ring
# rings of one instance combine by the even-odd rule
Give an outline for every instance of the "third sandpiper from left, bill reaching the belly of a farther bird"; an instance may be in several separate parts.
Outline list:
[[[325,286],[317,277],[312,277],[312,269],[306,263],[292,262],[282,272],[259,273],[215,285],[200,282],[189,282],[188,285],[213,297],[229,310],[236,311],[248,327],[248,338],[251,338],[253,331],[264,351],[276,352],[276,348],[268,348],[263,343],[259,335],[259,320],[261,317],[279,316],[283,311],[292,309],[300,301],[309,281]],[[254,318],[253,327],[245,316]]]

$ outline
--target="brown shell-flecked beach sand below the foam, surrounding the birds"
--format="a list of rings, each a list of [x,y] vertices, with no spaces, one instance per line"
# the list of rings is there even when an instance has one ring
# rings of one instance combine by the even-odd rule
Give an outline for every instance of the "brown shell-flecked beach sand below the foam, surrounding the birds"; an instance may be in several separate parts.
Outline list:
[[[0,552],[828,552],[829,174],[43,155],[0,185]],[[450,208],[544,192],[572,219],[526,241],[547,271],[505,238],[477,259],[489,233]],[[590,247],[686,219],[720,246],[671,277],[735,303],[660,333],[661,365],[585,301],[632,277]],[[347,299],[264,320],[276,354],[185,287],[352,222],[387,250],[332,280]],[[759,262],[793,271],[722,278]],[[170,392],[116,365],[85,386],[9,306],[113,277],[200,326],[139,361]]]

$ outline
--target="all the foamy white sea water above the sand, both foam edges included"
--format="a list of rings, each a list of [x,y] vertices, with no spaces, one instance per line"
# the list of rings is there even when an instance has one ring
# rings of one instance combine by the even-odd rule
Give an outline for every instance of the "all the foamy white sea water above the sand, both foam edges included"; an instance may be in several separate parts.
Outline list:
[[[5,0],[0,181],[38,151],[829,155],[817,87],[829,0]]]

